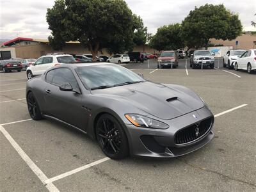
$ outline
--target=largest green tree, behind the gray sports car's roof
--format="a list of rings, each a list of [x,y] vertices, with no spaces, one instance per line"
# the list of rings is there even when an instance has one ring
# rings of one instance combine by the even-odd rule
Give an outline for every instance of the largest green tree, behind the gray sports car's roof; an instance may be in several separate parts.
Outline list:
[[[131,49],[138,27],[136,15],[123,0],[56,0],[47,9],[46,19],[54,47],[60,49],[63,42],[79,41],[92,52],[93,60],[102,48],[111,52]]]

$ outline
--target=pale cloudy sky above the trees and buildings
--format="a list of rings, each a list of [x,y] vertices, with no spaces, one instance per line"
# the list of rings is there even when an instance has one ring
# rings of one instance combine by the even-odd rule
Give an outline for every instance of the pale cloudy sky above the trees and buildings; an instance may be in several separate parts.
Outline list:
[[[231,12],[237,13],[244,31],[255,31],[251,21],[256,20],[255,0],[125,0],[132,13],[140,15],[148,32],[155,34],[157,28],[181,22],[195,6],[205,3],[224,4]],[[51,34],[45,19],[47,8],[54,0],[0,0],[0,38],[12,39],[17,36],[47,38]]]

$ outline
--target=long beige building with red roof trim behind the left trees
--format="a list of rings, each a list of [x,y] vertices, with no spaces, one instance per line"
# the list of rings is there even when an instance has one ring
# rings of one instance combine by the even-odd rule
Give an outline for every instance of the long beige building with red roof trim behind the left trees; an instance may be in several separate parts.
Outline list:
[[[3,43],[0,48],[1,59],[7,58],[39,58],[47,53],[58,52],[54,51],[46,39],[22,38],[18,37],[8,42]],[[134,47],[134,51],[156,53],[158,51],[151,49],[148,45]],[[90,54],[91,52],[84,48],[79,42],[67,42],[61,52],[68,54]],[[98,55],[107,55],[106,49],[98,52]]]

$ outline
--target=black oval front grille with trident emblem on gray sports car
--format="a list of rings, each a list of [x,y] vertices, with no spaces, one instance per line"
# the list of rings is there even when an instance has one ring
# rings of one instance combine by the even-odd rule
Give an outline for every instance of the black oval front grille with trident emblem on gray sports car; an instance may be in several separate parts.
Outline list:
[[[204,136],[206,132],[212,127],[213,117],[206,118],[200,122],[189,125],[176,133],[175,144],[184,144],[197,140]]]

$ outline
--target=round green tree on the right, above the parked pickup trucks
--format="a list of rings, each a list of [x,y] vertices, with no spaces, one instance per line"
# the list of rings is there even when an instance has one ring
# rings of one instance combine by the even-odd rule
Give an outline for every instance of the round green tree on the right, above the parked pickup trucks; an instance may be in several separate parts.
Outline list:
[[[207,48],[210,38],[233,40],[241,35],[242,29],[238,15],[223,4],[195,8],[182,21],[182,37],[188,47]]]

